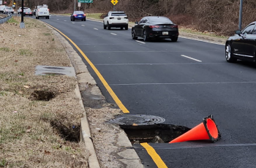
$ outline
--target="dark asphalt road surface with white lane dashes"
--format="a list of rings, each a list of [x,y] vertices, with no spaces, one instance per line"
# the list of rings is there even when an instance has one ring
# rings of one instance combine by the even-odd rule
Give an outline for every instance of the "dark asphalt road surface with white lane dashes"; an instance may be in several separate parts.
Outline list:
[[[83,50],[131,114],[157,115],[189,128],[214,115],[222,133],[217,143],[150,144],[167,167],[256,167],[255,66],[228,64],[223,45],[183,38],[135,41],[130,30],[104,30],[91,20],[55,15],[40,20]],[[157,167],[141,145],[135,149],[146,167]]]

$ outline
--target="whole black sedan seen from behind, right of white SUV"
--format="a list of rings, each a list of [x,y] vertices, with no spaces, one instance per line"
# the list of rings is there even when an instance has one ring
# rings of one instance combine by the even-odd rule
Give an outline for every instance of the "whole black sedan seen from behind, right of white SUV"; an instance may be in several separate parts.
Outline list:
[[[173,42],[178,40],[178,25],[173,23],[169,18],[163,16],[148,16],[135,22],[132,27],[132,39],[143,37],[146,42],[149,39],[172,39]]]

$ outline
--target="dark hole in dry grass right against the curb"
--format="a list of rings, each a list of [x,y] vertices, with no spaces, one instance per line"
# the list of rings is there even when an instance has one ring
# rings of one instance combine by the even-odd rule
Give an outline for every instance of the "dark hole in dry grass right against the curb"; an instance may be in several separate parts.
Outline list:
[[[59,132],[60,136],[69,142],[80,141],[80,125],[78,126],[65,126],[58,121],[50,121],[50,125]]]

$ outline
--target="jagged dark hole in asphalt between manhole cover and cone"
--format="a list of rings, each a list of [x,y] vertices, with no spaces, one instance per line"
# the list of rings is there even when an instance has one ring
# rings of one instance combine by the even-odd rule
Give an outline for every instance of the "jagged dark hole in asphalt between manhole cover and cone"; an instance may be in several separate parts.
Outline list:
[[[120,126],[127,134],[132,145],[143,142],[168,143],[190,129],[172,124],[155,124],[149,126]]]

